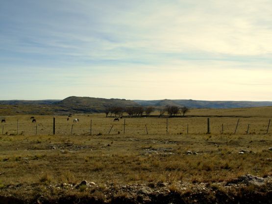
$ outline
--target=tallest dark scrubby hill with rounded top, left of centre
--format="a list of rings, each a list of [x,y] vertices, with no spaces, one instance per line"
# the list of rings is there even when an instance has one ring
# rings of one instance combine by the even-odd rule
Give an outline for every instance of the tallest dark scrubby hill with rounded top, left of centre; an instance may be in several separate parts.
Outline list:
[[[68,97],[60,102],[55,102],[55,105],[61,107],[69,107],[75,111],[83,112],[102,112],[108,106],[139,106],[137,102],[125,99],[102,99],[91,97]]]

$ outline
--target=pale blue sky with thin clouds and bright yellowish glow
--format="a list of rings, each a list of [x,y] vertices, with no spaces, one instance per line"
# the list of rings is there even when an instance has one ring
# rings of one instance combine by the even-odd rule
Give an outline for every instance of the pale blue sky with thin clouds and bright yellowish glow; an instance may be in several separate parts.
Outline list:
[[[0,100],[272,101],[271,0],[0,0]]]

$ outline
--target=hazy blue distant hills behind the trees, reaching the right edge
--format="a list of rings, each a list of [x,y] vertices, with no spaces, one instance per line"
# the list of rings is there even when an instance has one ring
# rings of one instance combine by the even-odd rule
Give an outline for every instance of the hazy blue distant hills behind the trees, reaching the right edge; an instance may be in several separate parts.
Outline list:
[[[272,106],[272,102],[251,102],[251,101],[197,101],[197,100],[134,100],[140,105],[147,106],[187,106],[189,108],[242,108],[242,107],[260,107]]]

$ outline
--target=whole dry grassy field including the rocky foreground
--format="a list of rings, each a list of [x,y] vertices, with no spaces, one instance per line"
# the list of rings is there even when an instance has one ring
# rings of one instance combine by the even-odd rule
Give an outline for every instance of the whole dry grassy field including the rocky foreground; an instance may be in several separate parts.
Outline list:
[[[35,116],[37,135],[32,115],[5,116],[0,196],[29,203],[241,203],[245,197],[271,203],[272,129],[266,131],[272,107],[194,109],[188,115],[168,119],[168,133],[166,118],[125,118],[124,132],[124,118],[74,115],[79,123],[73,125],[55,116],[55,135],[53,116]],[[246,174],[266,181],[239,183],[236,178]],[[82,180],[95,184],[77,188]]]

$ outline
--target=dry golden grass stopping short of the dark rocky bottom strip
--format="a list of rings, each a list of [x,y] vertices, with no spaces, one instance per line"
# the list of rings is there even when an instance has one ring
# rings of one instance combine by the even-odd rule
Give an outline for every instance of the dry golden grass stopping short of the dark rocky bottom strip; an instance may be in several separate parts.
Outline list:
[[[198,109],[189,114],[229,115],[235,111]],[[74,123],[73,135],[73,122],[65,116],[55,116],[55,135],[52,116],[35,116],[37,135],[30,115],[6,116],[6,124],[1,124],[4,135],[0,135],[0,190],[11,184],[75,184],[85,179],[101,188],[106,183],[168,182],[171,191],[178,192],[175,182],[179,180],[209,183],[244,174],[271,175],[268,148],[272,147],[272,131],[265,133],[272,108],[237,109],[237,115],[236,134],[237,117],[210,117],[211,134],[206,134],[206,117],[170,118],[168,134],[166,118],[125,118],[124,134],[124,119],[113,122],[103,114],[76,115],[73,118],[79,118],[79,123]],[[247,124],[250,134],[246,134]],[[247,153],[239,154],[240,150]],[[84,193],[84,187],[80,191]]]

